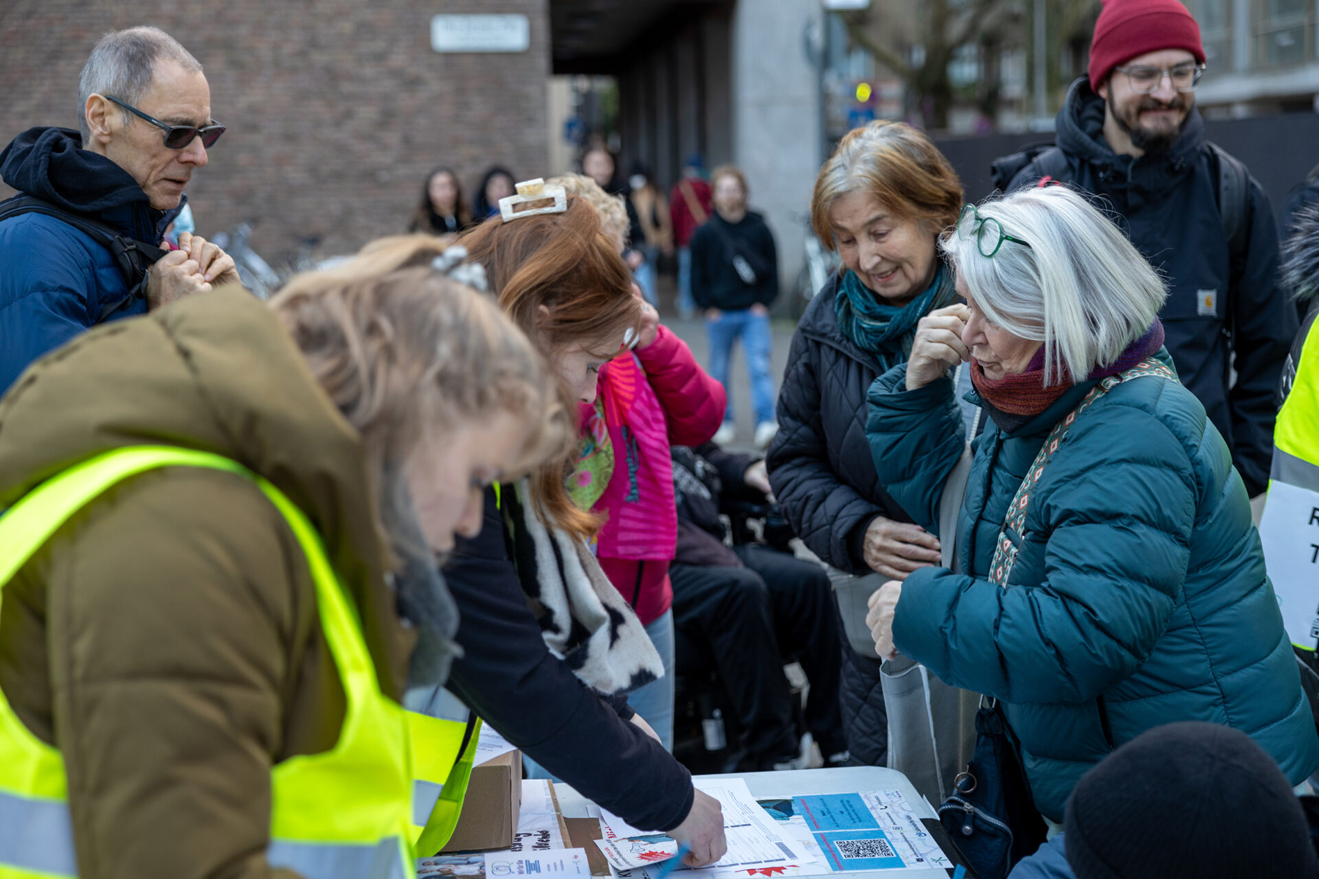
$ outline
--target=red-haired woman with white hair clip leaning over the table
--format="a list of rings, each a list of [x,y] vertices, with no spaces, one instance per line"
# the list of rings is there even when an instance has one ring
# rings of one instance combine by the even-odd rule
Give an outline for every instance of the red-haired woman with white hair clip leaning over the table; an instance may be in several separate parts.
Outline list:
[[[565,405],[580,409],[595,403],[605,365],[653,343],[657,328],[644,320],[600,215],[557,190],[546,184],[517,198],[534,206],[563,195],[562,210],[491,217],[462,242],[484,265],[500,307],[543,354]],[[605,438],[588,439],[599,448]],[[615,589],[601,571],[608,560],[598,561],[588,546],[601,517],[592,503],[576,502],[580,484],[568,480],[604,472],[583,468],[583,451],[574,444],[530,480],[487,490],[480,532],[445,568],[464,650],[447,687],[551,775],[633,826],[667,832],[687,845],[689,863],[711,863],[725,849],[718,801],[694,789],[687,770],[628,704],[627,693],[660,680],[663,664],[634,596]],[[627,474],[634,455],[617,448],[609,464]],[[633,476],[645,484],[645,473]]]

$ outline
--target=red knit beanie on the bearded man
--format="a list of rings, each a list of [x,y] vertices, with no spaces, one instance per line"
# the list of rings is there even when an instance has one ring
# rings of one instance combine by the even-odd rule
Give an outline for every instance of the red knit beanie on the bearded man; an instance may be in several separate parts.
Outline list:
[[[1184,49],[1204,63],[1200,25],[1178,0],[1104,0],[1089,43],[1091,88],[1099,88],[1113,67],[1165,49]]]

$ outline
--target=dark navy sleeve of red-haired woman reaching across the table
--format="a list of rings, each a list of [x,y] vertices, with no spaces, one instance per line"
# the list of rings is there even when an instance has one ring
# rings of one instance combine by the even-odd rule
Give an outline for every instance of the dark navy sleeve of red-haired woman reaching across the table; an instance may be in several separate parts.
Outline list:
[[[629,824],[671,830],[691,810],[691,775],[624,718],[627,701],[595,691],[550,654],[508,555],[495,492],[481,532],[445,565],[458,602],[458,643],[446,687],[528,756]]]

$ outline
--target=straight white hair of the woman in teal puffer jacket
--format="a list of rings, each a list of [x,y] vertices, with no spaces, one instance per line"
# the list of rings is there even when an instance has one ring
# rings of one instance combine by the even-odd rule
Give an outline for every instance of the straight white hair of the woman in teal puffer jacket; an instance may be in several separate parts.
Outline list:
[[[988,320],[1045,343],[1045,385],[1067,374],[1080,381],[1113,362],[1154,323],[1167,297],[1162,278],[1078,192],[1064,186],[1020,190],[981,202],[979,211],[1030,246],[1004,241],[985,257],[976,237],[963,237],[955,227],[939,246]]]

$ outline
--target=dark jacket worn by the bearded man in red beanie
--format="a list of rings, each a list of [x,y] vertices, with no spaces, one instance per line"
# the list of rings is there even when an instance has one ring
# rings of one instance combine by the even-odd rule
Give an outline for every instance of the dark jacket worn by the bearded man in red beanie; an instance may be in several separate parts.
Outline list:
[[[1245,248],[1235,260],[1217,204],[1219,158],[1199,111],[1191,109],[1171,148],[1140,158],[1113,153],[1103,127],[1104,99],[1083,76],[1058,113],[1058,148],[1067,158],[1062,181],[1104,196],[1113,220],[1162,271],[1167,351],[1253,497],[1268,486],[1278,376],[1297,332],[1295,308],[1278,285],[1269,196],[1249,181]],[[1037,159],[1008,188],[1033,184],[1041,174]],[[1237,377],[1229,385],[1233,365]]]

